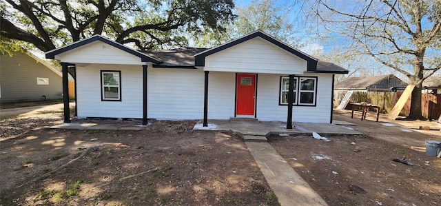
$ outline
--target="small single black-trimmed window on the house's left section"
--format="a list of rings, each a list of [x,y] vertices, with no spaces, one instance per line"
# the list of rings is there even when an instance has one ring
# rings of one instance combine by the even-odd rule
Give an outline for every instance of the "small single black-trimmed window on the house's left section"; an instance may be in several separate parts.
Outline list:
[[[121,101],[121,71],[101,71],[101,100]]]

